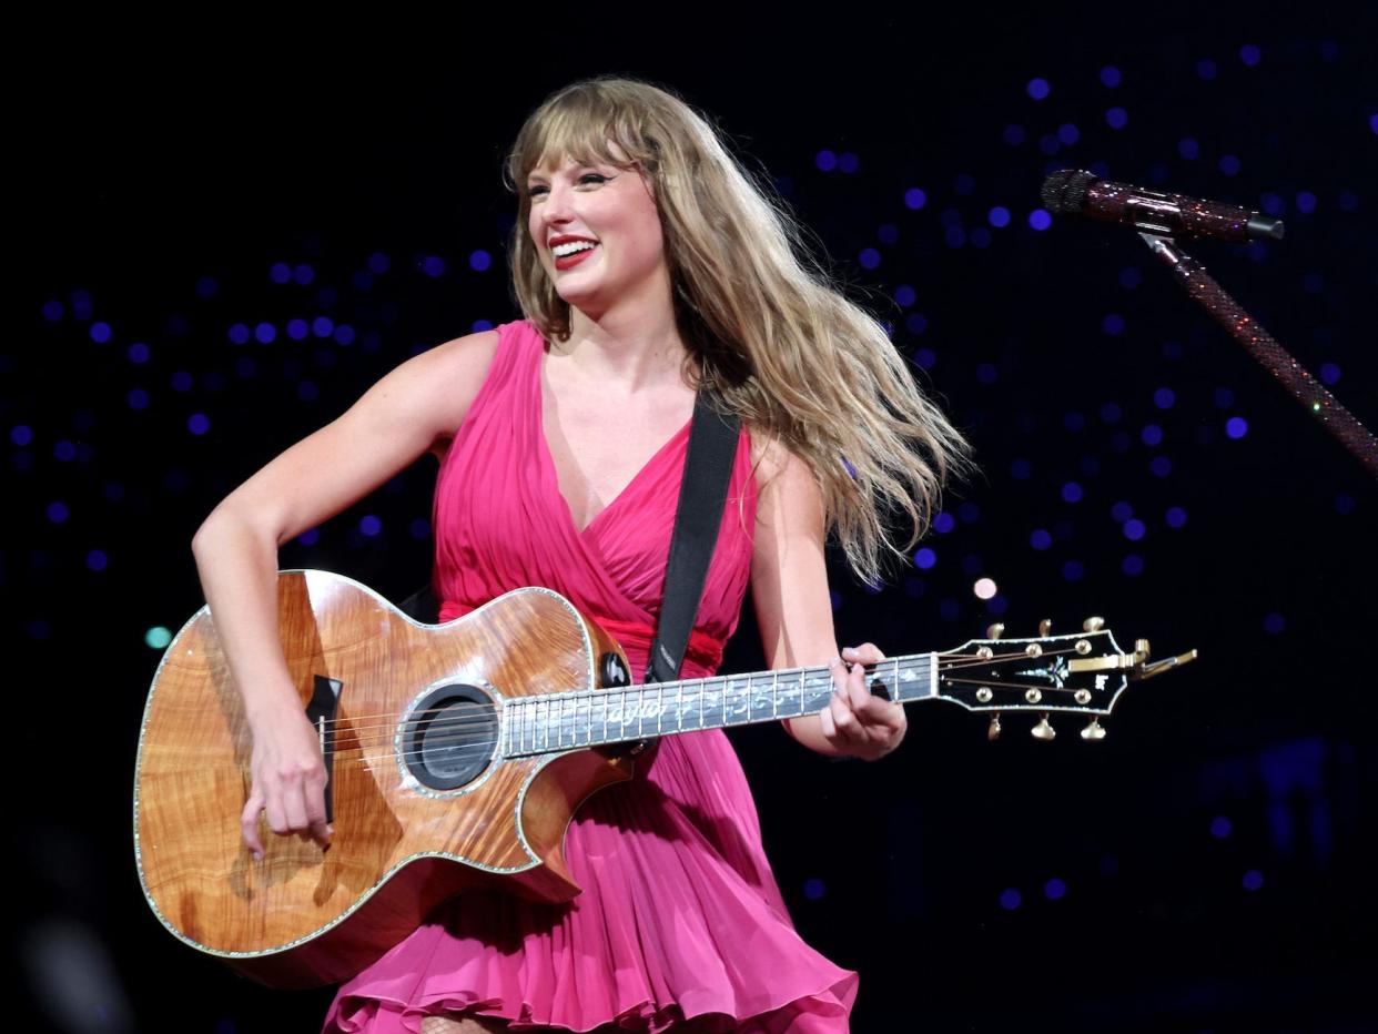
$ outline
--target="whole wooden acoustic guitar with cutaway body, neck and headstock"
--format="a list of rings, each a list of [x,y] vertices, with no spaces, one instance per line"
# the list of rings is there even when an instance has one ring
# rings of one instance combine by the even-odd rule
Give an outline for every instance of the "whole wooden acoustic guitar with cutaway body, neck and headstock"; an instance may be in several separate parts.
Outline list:
[[[149,691],[134,844],[174,935],[284,987],[353,976],[464,889],[573,898],[565,827],[586,797],[631,778],[631,744],[809,714],[832,693],[827,667],[633,685],[616,641],[546,589],[433,626],[347,578],[287,571],[278,630],[329,773],[329,848],[266,829],[260,860],[244,847],[251,735],[207,608]],[[1146,641],[1126,653],[1098,619],[1071,636],[998,636],[868,666],[871,689],[988,711],[992,736],[1000,713],[1040,714],[1040,739],[1050,713],[1082,713],[1082,736],[1100,739],[1131,678],[1195,656],[1149,665]]]

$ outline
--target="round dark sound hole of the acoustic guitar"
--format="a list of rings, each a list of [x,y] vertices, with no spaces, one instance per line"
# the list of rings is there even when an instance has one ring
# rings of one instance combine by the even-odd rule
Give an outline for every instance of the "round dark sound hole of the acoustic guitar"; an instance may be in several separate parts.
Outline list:
[[[412,709],[402,760],[422,786],[457,790],[477,779],[497,747],[497,711],[471,685],[446,685]]]

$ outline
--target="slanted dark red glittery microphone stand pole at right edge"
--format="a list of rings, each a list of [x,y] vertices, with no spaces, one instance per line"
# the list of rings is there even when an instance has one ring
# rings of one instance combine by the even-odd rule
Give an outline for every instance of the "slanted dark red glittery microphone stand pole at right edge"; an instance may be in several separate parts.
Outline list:
[[[1273,335],[1225,294],[1206,267],[1182,251],[1177,241],[1156,233],[1141,232],[1138,236],[1148,244],[1149,251],[1167,263],[1186,294],[1200,302],[1250,356],[1282,381],[1293,398],[1305,405],[1308,412],[1378,478],[1378,438],[1372,432],[1364,427],[1301,363],[1287,354]]]

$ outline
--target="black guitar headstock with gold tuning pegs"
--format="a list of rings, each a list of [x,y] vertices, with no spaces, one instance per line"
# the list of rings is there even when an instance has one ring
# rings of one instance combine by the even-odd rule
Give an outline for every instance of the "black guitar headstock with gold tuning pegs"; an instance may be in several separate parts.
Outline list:
[[[1005,638],[1005,626],[992,625],[987,638],[967,640],[938,653],[938,696],[971,711],[991,711],[988,736],[1000,735],[1002,711],[1040,716],[1031,729],[1035,739],[1056,736],[1053,711],[1086,713],[1082,739],[1100,740],[1102,716],[1111,713],[1133,680],[1152,678],[1196,659],[1196,651],[1149,663],[1148,640],[1135,640],[1126,652],[1101,618],[1087,618],[1082,631],[1053,636],[1051,622],[1039,623],[1032,638]]]

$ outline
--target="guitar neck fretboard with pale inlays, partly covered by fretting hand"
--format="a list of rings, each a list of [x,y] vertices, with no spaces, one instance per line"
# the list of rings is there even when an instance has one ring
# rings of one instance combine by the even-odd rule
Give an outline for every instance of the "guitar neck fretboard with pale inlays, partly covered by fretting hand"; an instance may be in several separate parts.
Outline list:
[[[865,670],[871,692],[886,699],[908,703],[938,695],[936,653],[893,658]],[[510,758],[532,757],[755,725],[816,714],[831,696],[832,671],[827,667],[522,696],[503,704],[502,747]]]

